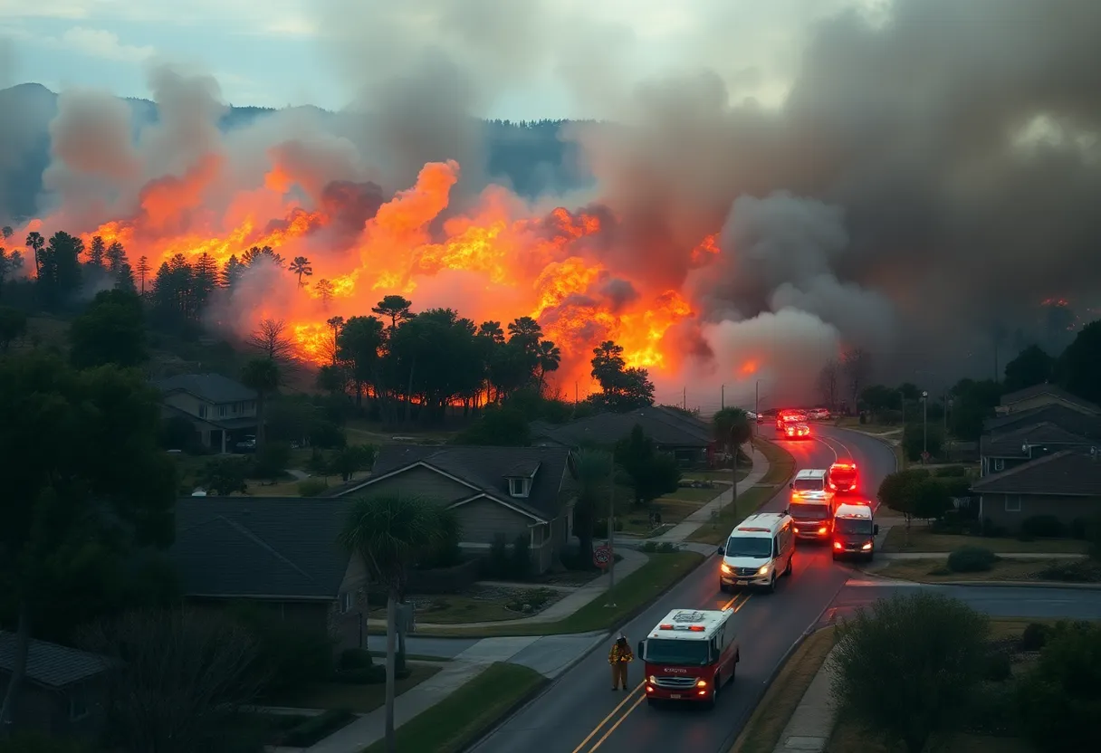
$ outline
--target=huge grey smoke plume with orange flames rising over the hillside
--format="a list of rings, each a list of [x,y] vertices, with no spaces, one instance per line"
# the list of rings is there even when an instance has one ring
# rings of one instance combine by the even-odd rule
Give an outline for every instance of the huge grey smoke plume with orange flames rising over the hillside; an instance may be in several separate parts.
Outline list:
[[[46,223],[155,260],[306,255],[333,301],[263,270],[217,317],[247,328],[277,310],[303,343],[401,292],[537,316],[564,381],[588,384],[591,347],[614,338],[659,397],[724,384],[748,404],[761,381],[807,400],[853,347],[877,379],[985,376],[995,328],[1028,339],[1043,299],[1098,293],[1101,3],[868,7],[792,0],[748,19],[700,0],[664,24],[690,29],[678,65],[641,69],[656,32],[591,3],[326,0],[346,112],[224,133],[217,84],[160,67],[160,121],[133,141],[128,106],[65,91]],[[487,179],[477,118],[549,77],[608,118],[562,135],[596,181],[584,199]]]

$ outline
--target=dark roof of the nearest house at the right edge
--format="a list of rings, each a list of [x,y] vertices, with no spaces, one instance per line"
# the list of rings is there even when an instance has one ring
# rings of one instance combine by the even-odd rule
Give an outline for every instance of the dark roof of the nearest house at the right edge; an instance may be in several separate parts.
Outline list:
[[[982,478],[971,489],[981,494],[1101,496],[1101,457],[1086,447],[1065,449]]]

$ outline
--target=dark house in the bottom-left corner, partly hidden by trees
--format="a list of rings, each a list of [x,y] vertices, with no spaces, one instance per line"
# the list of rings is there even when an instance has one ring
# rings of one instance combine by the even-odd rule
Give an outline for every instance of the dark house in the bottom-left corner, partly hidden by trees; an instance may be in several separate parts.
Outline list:
[[[0,631],[2,688],[7,688],[11,679],[15,644],[14,633]],[[101,656],[32,640],[12,728],[58,736],[97,734],[105,719],[108,667]]]

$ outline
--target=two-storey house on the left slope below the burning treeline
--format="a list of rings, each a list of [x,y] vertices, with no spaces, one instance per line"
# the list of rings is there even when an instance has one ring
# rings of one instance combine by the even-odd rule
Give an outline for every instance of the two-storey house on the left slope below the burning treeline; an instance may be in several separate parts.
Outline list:
[[[221,374],[179,374],[154,382],[166,418],[192,423],[204,447],[226,452],[257,433],[257,393]]]

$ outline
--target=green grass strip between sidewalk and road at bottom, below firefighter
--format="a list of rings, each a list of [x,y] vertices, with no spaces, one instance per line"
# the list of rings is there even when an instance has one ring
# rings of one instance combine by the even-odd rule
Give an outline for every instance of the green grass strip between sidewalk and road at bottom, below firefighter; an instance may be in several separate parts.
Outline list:
[[[444,700],[397,728],[399,751],[459,753],[546,683],[534,669],[498,662]],[[379,740],[363,753],[383,753]]]

